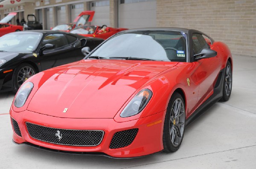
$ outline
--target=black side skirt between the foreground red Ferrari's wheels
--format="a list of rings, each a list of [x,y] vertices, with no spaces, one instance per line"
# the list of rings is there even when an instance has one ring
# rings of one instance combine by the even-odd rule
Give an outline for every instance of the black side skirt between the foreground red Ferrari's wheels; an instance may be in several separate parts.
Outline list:
[[[219,99],[221,99],[225,75],[224,71],[225,68],[223,68],[218,75],[218,79],[213,89],[212,96],[210,96],[206,101],[204,101],[204,103],[201,104],[201,106],[199,106],[195,110],[195,112],[192,115],[190,115],[189,118],[186,119],[186,126],[195,121],[195,119],[200,117],[206,110],[208,110],[210,107],[212,107],[213,104],[215,104],[217,101],[219,101]]]

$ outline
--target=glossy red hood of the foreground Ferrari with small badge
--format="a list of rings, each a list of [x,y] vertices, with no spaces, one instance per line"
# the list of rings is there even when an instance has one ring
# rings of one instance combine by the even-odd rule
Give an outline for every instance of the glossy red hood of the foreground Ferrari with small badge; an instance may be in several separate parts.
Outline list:
[[[47,79],[27,110],[61,118],[113,118],[145,82],[175,65],[177,62],[82,60]]]

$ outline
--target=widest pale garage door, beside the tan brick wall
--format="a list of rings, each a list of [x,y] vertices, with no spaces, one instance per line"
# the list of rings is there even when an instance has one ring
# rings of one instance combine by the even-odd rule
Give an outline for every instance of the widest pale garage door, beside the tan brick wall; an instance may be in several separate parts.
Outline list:
[[[119,0],[119,28],[156,27],[156,0]]]

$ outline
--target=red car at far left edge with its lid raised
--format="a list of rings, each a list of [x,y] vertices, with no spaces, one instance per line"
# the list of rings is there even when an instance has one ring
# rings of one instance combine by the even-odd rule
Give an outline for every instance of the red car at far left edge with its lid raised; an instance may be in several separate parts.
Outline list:
[[[15,31],[23,31],[23,26],[11,25],[8,22],[17,15],[17,12],[12,12],[0,20],[0,37]]]

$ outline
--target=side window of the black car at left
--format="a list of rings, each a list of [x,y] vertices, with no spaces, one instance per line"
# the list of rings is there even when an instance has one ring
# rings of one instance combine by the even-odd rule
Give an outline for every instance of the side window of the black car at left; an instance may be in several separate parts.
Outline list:
[[[54,45],[54,48],[60,48],[68,44],[67,38],[64,34],[49,34],[44,37],[42,46],[46,45],[47,43]]]

